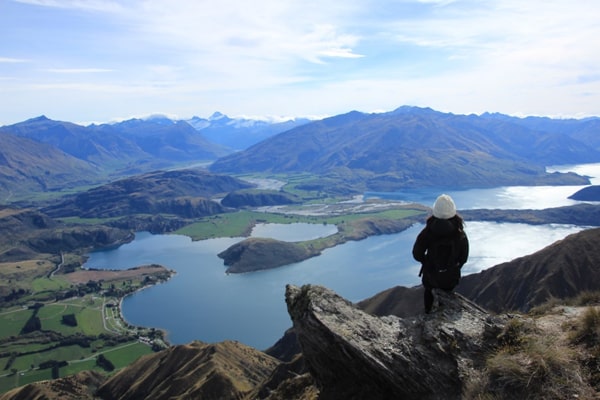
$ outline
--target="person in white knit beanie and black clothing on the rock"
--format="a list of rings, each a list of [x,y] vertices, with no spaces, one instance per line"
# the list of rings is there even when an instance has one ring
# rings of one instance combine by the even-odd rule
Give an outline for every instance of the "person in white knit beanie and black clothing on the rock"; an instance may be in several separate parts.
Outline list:
[[[419,276],[425,288],[425,312],[429,313],[433,307],[433,289],[454,290],[460,280],[460,269],[469,257],[464,221],[447,194],[436,199],[433,215],[413,246],[413,257],[421,263]]]

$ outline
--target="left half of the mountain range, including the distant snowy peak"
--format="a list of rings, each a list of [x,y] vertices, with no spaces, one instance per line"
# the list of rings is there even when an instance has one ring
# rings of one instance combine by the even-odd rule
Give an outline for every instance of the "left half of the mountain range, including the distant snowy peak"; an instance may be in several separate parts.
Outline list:
[[[220,113],[209,120],[153,116],[89,126],[32,118],[0,127],[0,198],[11,201],[35,192],[209,163],[241,144],[302,122],[232,119]]]

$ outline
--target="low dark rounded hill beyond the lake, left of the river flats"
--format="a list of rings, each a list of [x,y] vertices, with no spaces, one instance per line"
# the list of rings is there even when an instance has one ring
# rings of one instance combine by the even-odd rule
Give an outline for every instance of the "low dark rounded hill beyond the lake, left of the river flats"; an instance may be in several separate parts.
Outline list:
[[[210,197],[249,187],[239,179],[202,170],[157,171],[78,193],[44,212],[52,217],[167,213],[191,218],[223,212]]]

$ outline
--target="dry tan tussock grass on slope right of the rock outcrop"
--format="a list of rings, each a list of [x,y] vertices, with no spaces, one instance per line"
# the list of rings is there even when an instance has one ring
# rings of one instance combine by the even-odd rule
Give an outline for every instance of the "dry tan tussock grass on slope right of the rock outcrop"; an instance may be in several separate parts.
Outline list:
[[[466,399],[600,399],[598,294],[578,305],[552,301],[515,315],[499,336],[486,370],[465,388]],[[593,300],[595,304],[581,305]],[[571,301],[570,304],[574,304]]]

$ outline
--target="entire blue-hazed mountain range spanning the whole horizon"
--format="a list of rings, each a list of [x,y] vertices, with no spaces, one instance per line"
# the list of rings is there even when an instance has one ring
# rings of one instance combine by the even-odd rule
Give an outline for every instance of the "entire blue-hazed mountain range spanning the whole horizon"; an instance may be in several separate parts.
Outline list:
[[[81,126],[41,116],[0,127],[0,198],[190,164],[233,174],[309,173],[313,178],[304,185],[331,193],[583,185],[585,177],[545,168],[600,161],[598,129],[598,118],[455,115],[417,107],[282,123],[215,113]]]

